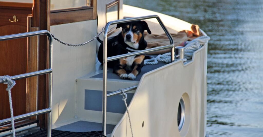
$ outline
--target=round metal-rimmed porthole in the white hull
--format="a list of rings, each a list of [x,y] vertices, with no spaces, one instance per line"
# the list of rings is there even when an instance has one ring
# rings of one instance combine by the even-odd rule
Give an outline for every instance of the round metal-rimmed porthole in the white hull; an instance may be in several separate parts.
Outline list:
[[[185,120],[185,105],[183,98],[180,99],[179,106],[178,106],[178,112],[177,112],[177,123],[178,123],[178,129],[179,132],[183,128]]]

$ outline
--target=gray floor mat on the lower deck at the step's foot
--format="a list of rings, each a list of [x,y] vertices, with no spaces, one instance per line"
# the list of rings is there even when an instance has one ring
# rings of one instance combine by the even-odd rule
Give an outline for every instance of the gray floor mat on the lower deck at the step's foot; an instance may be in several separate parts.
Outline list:
[[[107,133],[112,133],[115,125],[107,124]],[[77,121],[68,125],[60,126],[55,130],[71,131],[71,132],[88,132],[88,131],[101,131],[102,123],[88,122],[88,121]]]

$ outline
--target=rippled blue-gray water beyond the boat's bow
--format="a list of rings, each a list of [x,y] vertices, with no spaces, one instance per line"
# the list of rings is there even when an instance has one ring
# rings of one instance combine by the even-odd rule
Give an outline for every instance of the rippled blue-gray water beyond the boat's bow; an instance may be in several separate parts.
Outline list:
[[[210,136],[263,136],[263,0],[124,0],[198,24],[208,45]]]

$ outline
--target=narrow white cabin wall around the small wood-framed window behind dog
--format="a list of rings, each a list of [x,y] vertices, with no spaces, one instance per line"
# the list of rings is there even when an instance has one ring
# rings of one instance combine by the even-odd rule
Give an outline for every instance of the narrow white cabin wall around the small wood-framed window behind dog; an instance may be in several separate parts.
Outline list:
[[[98,32],[101,31],[102,27],[106,25],[106,4],[114,0],[97,0],[97,14],[98,14]],[[120,12],[119,18],[123,18],[123,0],[120,0]],[[100,35],[99,38],[103,40],[103,35]],[[100,43],[97,42],[97,50],[99,49]]]

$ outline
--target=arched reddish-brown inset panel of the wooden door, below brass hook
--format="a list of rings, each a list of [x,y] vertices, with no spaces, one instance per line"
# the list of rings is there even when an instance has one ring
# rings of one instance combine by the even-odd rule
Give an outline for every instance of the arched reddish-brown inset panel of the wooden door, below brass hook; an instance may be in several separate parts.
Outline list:
[[[0,27],[0,35],[27,32],[27,27],[5,25]],[[18,75],[27,72],[27,38],[0,41],[0,75]],[[6,84],[0,84],[0,119],[10,118],[8,92]],[[16,80],[11,90],[14,116],[26,112],[26,79]]]

